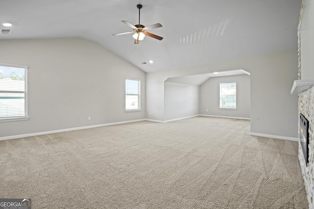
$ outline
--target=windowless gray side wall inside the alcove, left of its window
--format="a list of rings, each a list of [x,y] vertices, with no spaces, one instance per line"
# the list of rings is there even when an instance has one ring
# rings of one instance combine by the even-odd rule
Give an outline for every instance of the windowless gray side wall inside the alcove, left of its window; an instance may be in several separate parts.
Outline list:
[[[164,82],[164,120],[199,115],[199,86]]]

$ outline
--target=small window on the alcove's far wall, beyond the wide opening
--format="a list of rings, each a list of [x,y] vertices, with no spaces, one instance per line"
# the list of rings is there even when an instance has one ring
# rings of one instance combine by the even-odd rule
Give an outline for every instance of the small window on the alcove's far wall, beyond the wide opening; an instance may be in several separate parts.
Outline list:
[[[236,83],[220,83],[220,108],[236,109]]]

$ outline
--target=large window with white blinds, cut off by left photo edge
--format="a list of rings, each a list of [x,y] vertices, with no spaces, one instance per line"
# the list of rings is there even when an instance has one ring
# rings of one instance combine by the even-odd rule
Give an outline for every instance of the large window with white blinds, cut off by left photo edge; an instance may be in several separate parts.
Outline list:
[[[27,67],[0,63],[0,120],[27,119]]]

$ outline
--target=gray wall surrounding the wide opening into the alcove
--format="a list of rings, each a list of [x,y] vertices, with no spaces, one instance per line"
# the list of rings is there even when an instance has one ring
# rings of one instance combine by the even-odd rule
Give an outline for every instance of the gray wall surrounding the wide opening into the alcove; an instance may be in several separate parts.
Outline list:
[[[298,96],[290,94],[297,76],[297,49],[211,62],[146,74],[147,118],[164,119],[164,81],[168,77],[243,69],[251,73],[251,132],[298,138]]]

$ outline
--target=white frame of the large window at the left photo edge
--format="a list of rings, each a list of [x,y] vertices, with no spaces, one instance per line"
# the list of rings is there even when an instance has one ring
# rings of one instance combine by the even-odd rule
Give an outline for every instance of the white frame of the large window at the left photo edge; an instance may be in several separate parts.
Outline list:
[[[3,67],[12,67],[12,68],[22,68],[25,70],[25,90],[24,92],[15,92],[15,91],[0,91],[0,93],[24,93],[24,116],[0,116],[0,122],[5,122],[5,121],[14,121],[14,120],[28,120],[29,116],[27,113],[27,70],[28,66],[22,66],[22,65],[12,65],[12,64],[5,64],[5,63],[0,63],[0,66]]]

